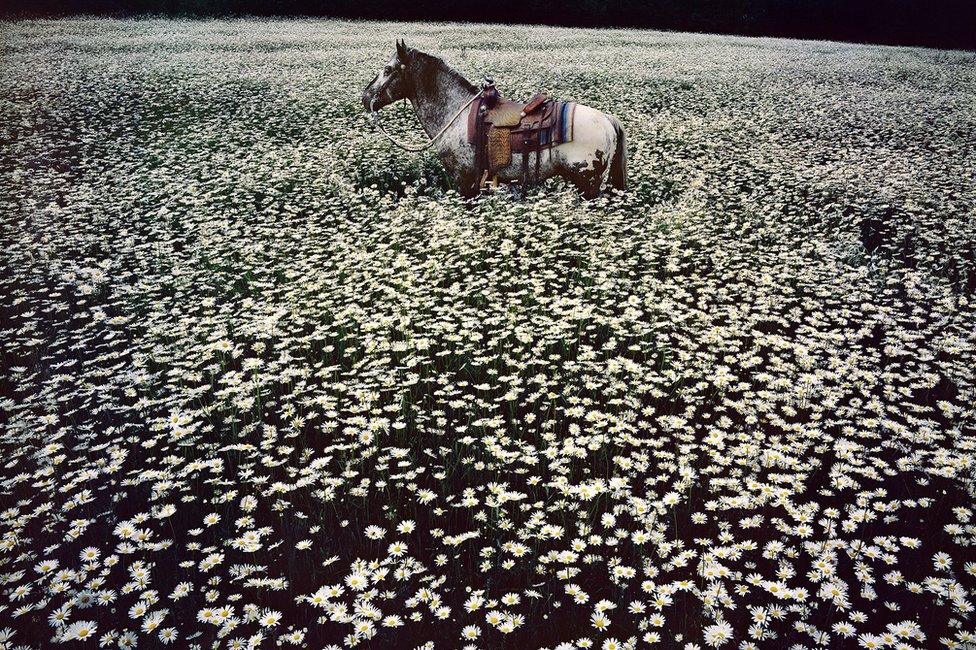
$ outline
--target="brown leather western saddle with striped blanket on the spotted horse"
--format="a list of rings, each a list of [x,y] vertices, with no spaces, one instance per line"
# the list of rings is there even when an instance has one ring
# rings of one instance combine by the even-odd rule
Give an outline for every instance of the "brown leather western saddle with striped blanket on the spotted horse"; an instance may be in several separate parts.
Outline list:
[[[513,153],[522,155],[522,186],[538,183],[543,151],[572,142],[575,110],[574,102],[550,99],[545,93],[537,93],[525,104],[513,102],[490,82],[486,84],[468,113],[477,188],[489,181],[497,185],[497,174],[512,164]],[[532,165],[530,158],[534,158]]]

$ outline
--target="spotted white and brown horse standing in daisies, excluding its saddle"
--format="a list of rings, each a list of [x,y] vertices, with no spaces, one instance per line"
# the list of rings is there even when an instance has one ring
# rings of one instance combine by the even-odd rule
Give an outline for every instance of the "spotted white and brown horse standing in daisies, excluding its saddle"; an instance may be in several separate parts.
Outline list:
[[[478,151],[469,141],[469,107],[478,100],[479,89],[442,59],[407,47],[398,40],[396,51],[386,66],[363,92],[363,107],[378,120],[378,111],[400,100],[409,100],[429,141],[426,149],[437,147],[438,156],[453,176],[465,197],[477,195],[484,186],[478,178]],[[600,195],[604,185],[627,188],[627,151],[623,126],[617,118],[594,108],[576,104],[571,120],[572,139],[532,153],[511,153],[507,167],[496,170],[498,181],[525,181],[523,156],[534,158],[536,181],[555,176],[574,185],[586,199]],[[378,124],[378,122],[377,122]],[[382,129],[382,126],[380,126]],[[383,131],[386,134],[385,131]],[[403,149],[410,149],[391,141]],[[523,188],[524,189],[524,188]]]

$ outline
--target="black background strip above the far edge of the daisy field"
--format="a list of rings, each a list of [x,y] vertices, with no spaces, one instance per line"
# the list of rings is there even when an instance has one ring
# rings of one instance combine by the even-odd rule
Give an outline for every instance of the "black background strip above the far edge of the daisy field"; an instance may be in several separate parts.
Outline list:
[[[0,0],[0,14],[542,23],[976,49],[976,0]]]

